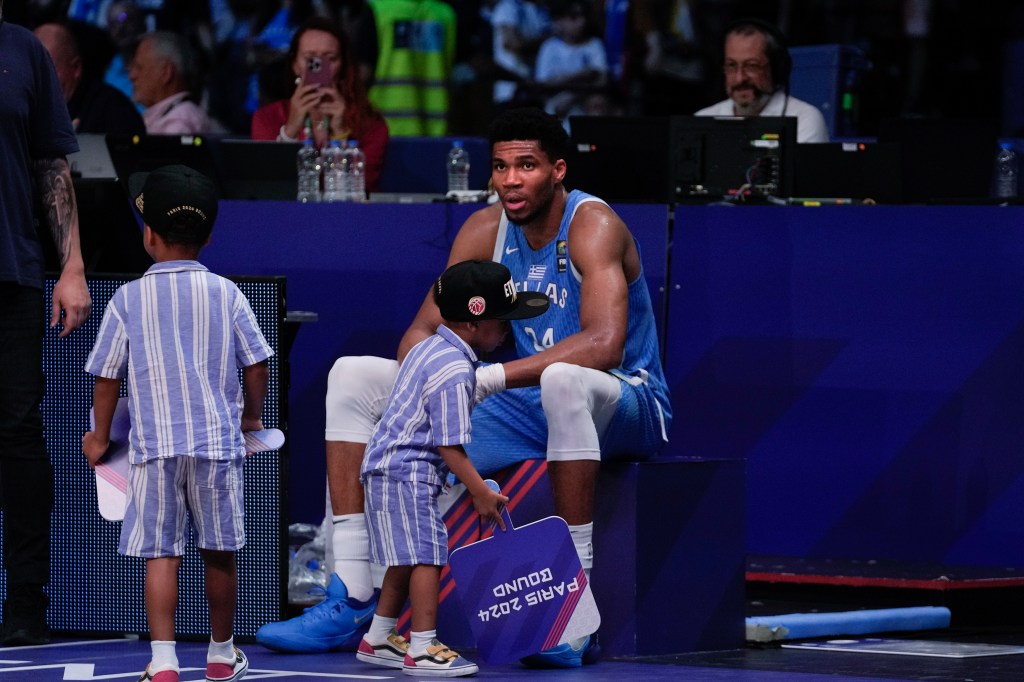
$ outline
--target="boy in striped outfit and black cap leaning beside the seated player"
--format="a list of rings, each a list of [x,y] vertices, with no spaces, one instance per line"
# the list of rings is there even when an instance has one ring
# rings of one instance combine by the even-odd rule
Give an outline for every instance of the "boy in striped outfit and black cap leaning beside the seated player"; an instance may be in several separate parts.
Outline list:
[[[517,293],[501,263],[471,260],[444,270],[434,301],[444,324],[406,356],[362,459],[371,559],[388,569],[355,655],[418,677],[457,677],[478,668],[436,637],[438,583],[447,563],[437,496],[451,470],[477,513],[504,528],[500,509],[508,498],[484,484],[463,449],[471,439],[473,349],[497,348],[509,331],[506,321],[542,314],[548,297]],[[413,611],[408,642],[394,630],[407,597]]]

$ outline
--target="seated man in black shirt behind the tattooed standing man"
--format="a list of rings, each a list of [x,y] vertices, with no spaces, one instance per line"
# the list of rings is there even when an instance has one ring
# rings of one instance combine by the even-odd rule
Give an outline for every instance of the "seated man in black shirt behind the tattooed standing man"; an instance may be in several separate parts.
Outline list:
[[[43,24],[36,37],[46,47],[78,133],[144,134],[145,124],[131,99],[117,88],[86,76],[74,34],[59,24]]]

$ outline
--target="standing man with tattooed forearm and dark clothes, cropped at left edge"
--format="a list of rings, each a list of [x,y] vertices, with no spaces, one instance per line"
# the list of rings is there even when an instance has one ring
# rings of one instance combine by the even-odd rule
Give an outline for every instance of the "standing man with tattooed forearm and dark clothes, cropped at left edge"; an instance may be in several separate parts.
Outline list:
[[[50,327],[62,323],[67,336],[85,322],[91,300],[67,160],[78,151],[68,108],[46,50],[29,30],[4,20],[3,0],[0,45],[0,493],[7,570],[0,644],[14,646],[49,641],[53,468],[40,413],[46,328],[37,217],[60,265]]]

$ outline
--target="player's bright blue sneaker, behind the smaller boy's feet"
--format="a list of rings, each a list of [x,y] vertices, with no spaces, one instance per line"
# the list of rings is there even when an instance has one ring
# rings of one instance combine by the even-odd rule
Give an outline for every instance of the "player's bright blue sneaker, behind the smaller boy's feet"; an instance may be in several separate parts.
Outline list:
[[[367,601],[348,597],[348,590],[337,573],[325,590],[327,598],[315,606],[281,623],[267,623],[256,631],[256,641],[275,651],[321,653],[346,645],[355,646],[360,631],[370,627],[377,608],[377,592]],[[358,638],[356,637],[358,636]]]

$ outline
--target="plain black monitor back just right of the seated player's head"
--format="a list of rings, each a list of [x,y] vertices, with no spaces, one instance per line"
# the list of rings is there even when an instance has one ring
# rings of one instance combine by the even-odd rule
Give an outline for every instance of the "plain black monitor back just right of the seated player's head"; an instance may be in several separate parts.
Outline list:
[[[671,119],[573,116],[565,184],[609,202],[672,202]]]

